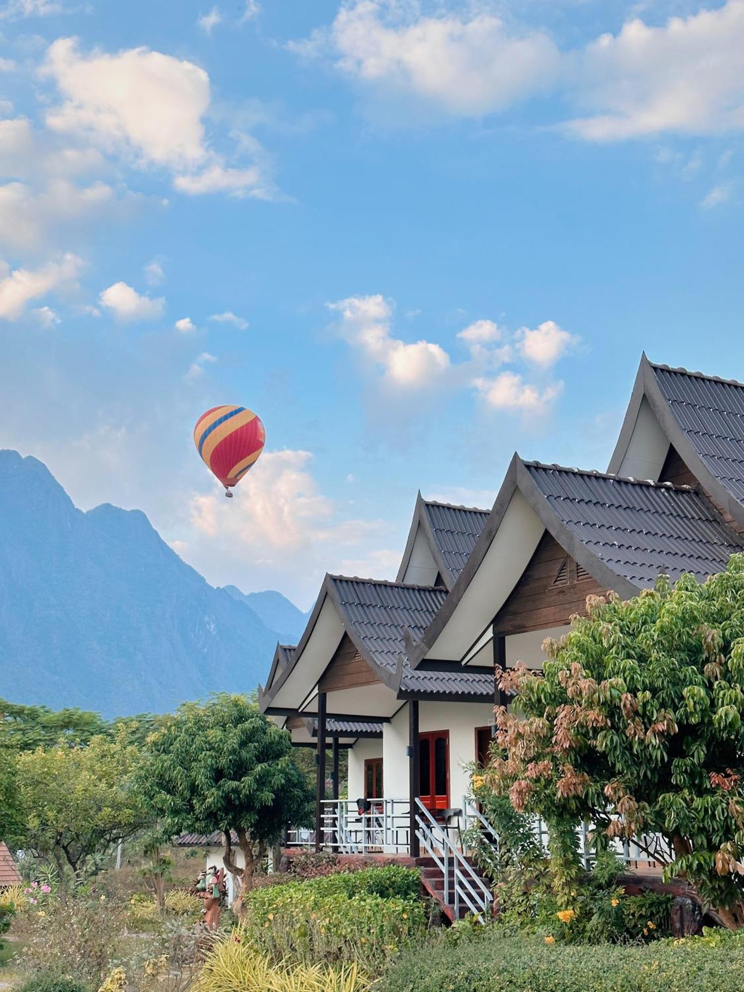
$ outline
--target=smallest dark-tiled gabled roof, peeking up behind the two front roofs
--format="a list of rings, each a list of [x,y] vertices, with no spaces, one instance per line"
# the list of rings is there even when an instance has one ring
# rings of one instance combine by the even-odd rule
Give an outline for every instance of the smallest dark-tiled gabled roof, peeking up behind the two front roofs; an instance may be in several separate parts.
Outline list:
[[[434,562],[431,584],[434,585],[435,572],[438,572],[444,586],[451,589],[485,527],[488,513],[488,510],[425,500],[419,493],[396,580],[404,581],[406,573],[416,568],[412,558],[422,554],[417,548],[418,538],[426,542]]]

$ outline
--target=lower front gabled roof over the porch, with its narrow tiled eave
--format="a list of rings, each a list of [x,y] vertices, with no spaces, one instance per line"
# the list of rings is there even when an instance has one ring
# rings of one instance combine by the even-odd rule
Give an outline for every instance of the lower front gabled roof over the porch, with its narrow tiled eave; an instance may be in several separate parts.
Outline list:
[[[430,695],[461,701],[491,699],[493,675],[489,671],[450,670],[444,666],[413,672],[406,661],[407,642],[423,636],[446,595],[445,589],[425,585],[326,575],[292,664],[278,676],[271,688],[259,687],[262,709],[271,708],[276,693],[291,678],[293,671],[302,665],[303,651],[310,642],[313,626],[327,599],[335,607],[342,630],[359,656],[398,698]],[[335,647],[337,642],[333,650]],[[330,661],[330,654],[327,661]]]

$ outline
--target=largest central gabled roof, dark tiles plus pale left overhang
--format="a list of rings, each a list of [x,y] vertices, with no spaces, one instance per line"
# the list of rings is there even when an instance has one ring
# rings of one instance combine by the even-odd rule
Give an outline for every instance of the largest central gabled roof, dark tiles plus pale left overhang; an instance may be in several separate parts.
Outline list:
[[[409,645],[415,668],[428,656],[466,656],[546,530],[598,582],[622,596],[653,585],[661,572],[676,579],[691,571],[704,579],[744,549],[744,539],[689,486],[544,465],[515,454],[466,567],[421,641]],[[467,644],[457,628],[447,632],[458,611]]]

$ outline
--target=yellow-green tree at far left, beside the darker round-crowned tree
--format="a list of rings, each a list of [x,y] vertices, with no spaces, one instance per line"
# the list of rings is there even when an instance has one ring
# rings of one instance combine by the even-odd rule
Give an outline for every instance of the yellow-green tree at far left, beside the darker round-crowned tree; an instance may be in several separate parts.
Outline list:
[[[95,871],[100,859],[148,821],[132,788],[139,752],[118,737],[85,747],[51,747],[18,756],[22,821],[15,841],[53,860],[62,880]]]

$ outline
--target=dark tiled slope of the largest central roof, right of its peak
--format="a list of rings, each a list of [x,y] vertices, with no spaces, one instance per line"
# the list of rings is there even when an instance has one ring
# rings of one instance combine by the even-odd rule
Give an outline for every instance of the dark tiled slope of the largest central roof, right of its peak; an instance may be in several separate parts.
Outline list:
[[[640,587],[664,572],[721,571],[744,539],[697,490],[525,462],[558,519],[597,558]]]

